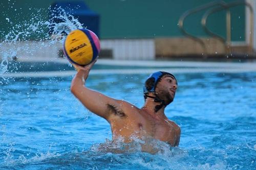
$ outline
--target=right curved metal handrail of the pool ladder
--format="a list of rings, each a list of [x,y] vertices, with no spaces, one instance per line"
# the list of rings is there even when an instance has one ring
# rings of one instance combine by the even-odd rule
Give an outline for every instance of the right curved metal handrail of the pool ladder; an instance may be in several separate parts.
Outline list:
[[[228,10],[229,11],[230,8],[236,7],[236,6],[239,6],[239,5],[245,5],[245,6],[247,6],[250,9],[250,33],[251,33],[251,35],[249,36],[249,38],[250,38],[250,40],[249,40],[249,50],[252,52],[253,51],[253,34],[254,34],[254,30],[253,30],[253,17],[254,17],[254,14],[253,14],[252,6],[250,4],[248,4],[247,2],[240,0],[240,1],[232,2],[232,3],[228,3],[226,5],[226,8],[215,8],[215,9],[209,10],[209,11],[207,11],[203,15],[201,23],[202,23],[205,31],[208,34],[220,38],[221,36],[211,32],[206,27],[206,21],[207,21],[208,16],[213,14],[213,13],[215,13],[215,12],[222,11],[222,10]],[[230,54],[231,53],[231,23],[230,23],[230,14],[229,14],[229,21],[227,21],[227,30],[226,31],[227,31],[227,38],[226,38],[226,40],[224,38],[222,38],[222,37],[220,39],[222,41],[224,39],[224,42],[225,42],[225,45],[226,45],[226,52],[228,52]]]

